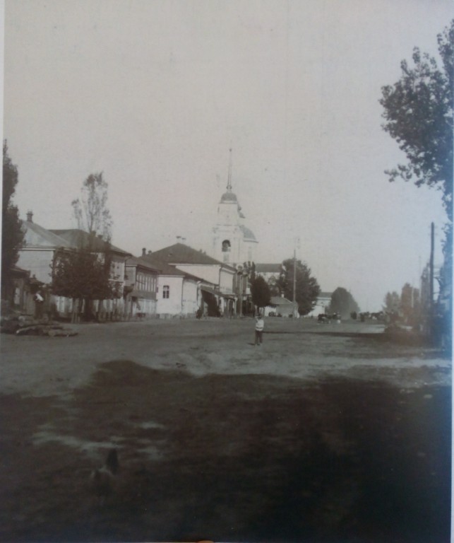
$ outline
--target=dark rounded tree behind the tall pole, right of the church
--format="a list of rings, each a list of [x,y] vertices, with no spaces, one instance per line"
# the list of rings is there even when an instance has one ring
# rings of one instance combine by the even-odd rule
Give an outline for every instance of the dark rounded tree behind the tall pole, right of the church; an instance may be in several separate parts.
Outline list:
[[[296,266],[295,266],[296,263]],[[296,277],[294,270],[296,269]],[[320,293],[315,277],[311,276],[311,269],[303,264],[301,260],[289,258],[282,262],[282,272],[277,279],[277,286],[285,298],[293,300],[293,285],[295,278],[295,301],[298,304],[299,315],[307,315],[317,302]]]

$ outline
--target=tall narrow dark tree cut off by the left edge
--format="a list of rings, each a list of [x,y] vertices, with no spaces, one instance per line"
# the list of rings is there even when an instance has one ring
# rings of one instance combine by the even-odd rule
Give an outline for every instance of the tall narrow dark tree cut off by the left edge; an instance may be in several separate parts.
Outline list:
[[[13,195],[18,184],[18,168],[8,155],[8,144],[3,143],[3,187],[1,206],[1,288],[2,298],[8,296],[11,288],[11,268],[19,257],[24,233],[17,206],[13,204]]]

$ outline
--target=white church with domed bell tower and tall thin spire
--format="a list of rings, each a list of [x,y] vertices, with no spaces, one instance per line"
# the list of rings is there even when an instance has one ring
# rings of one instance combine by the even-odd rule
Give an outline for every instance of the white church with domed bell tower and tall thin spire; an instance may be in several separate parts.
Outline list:
[[[237,195],[232,191],[232,149],[230,149],[227,190],[217,206],[211,254],[217,260],[239,267],[256,262],[258,241],[245,224]]]

